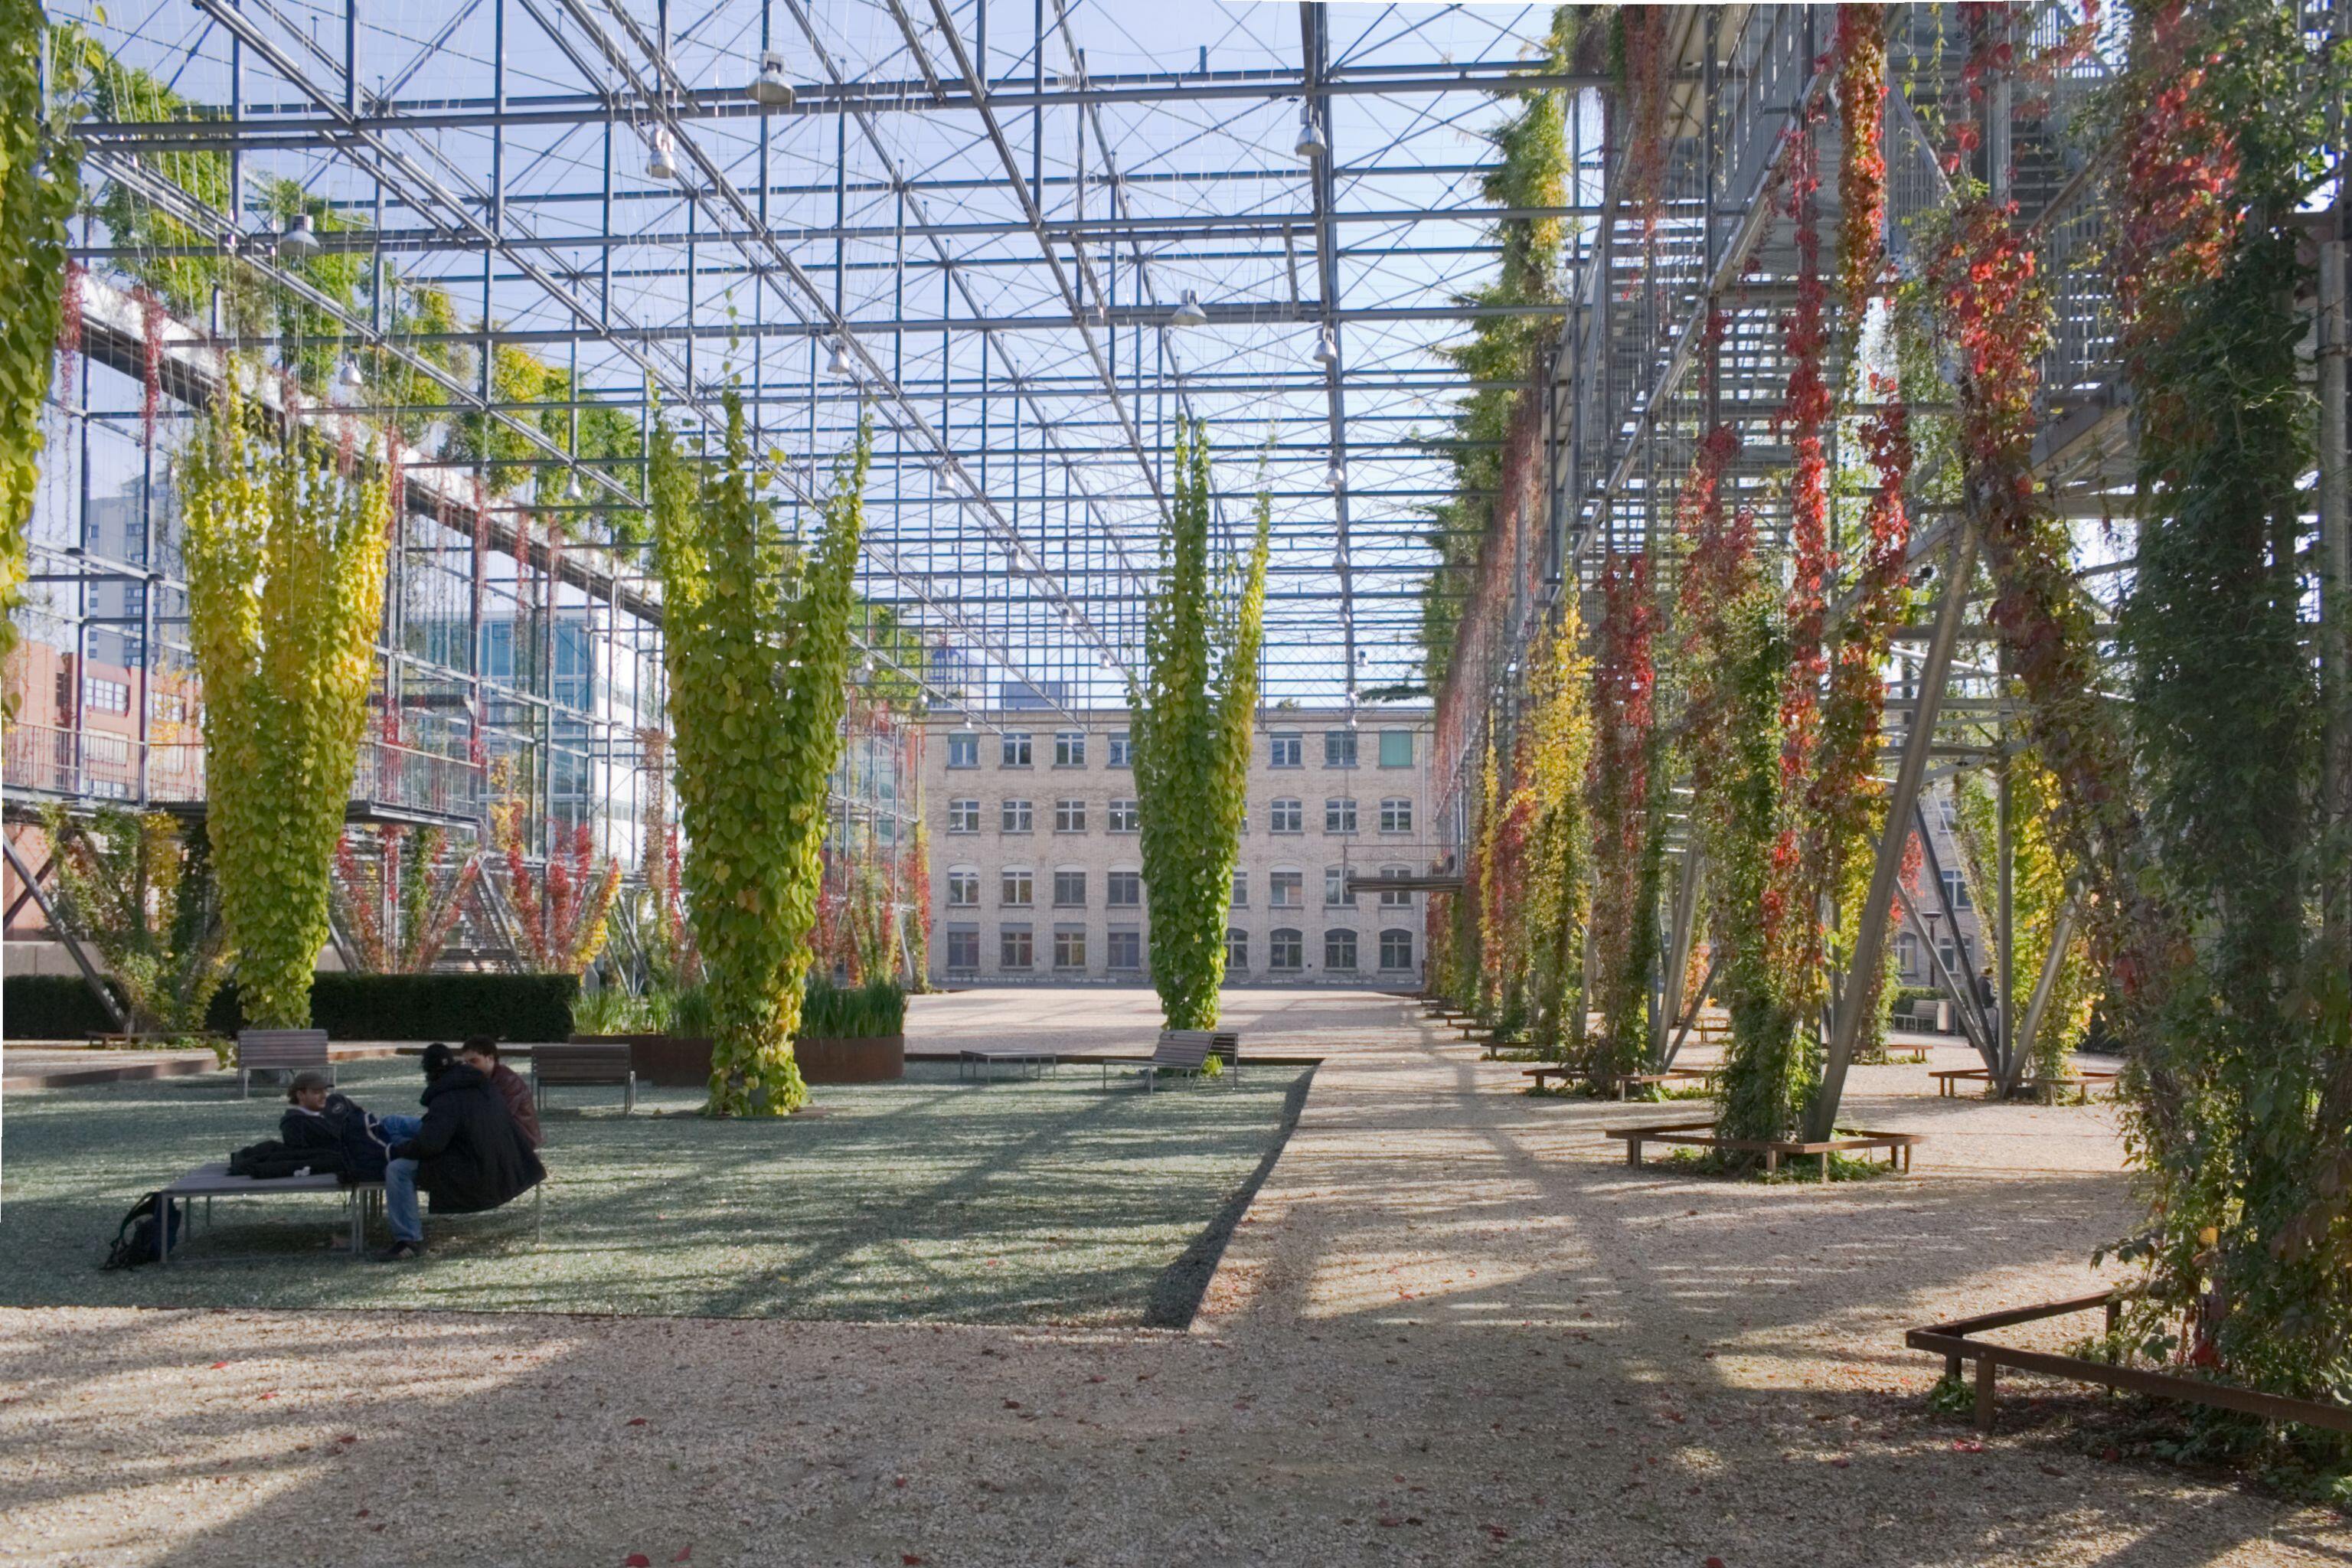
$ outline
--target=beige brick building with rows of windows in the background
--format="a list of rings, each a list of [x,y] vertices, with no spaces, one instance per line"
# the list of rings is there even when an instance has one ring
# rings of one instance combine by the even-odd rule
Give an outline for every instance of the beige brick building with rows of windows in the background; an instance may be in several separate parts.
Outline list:
[[[1000,708],[931,719],[934,983],[1150,978],[1150,910],[1127,710]],[[1430,712],[1270,708],[1249,748],[1249,818],[1228,983],[1418,987],[1423,900],[1362,886],[1428,867]],[[1350,889],[1350,879],[1357,882]]]

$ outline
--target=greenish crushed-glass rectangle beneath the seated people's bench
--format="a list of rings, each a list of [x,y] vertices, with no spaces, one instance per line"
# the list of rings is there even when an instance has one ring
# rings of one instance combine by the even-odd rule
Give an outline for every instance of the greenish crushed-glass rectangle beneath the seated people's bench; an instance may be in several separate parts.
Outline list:
[[[1117,1084],[1117,1079],[1115,1079]],[[343,1067],[409,1110],[407,1060]],[[188,1258],[106,1274],[146,1190],[275,1135],[282,1100],[202,1074],[9,1095],[0,1131],[0,1305],[459,1307],[691,1316],[1183,1324],[1279,1150],[1305,1070],[1145,1095],[1091,1067],[960,1084],[821,1088],[816,1114],[706,1121],[689,1091],[555,1091],[546,1239],[532,1201],[426,1218],[419,1265],[329,1253],[341,1199],[216,1204]],[[372,1241],[381,1244],[381,1225]]]

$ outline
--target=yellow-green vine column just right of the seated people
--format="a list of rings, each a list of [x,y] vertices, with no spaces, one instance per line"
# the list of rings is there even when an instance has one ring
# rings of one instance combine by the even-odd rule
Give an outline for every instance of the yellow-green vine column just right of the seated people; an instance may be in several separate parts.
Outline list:
[[[710,1011],[710,1114],[781,1117],[809,1100],[793,1060],[816,926],[826,783],[842,750],[851,576],[866,524],[870,425],[833,465],[811,555],[760,496],[743,402],[727,447],[691,463],[652,442],[684,889]]]

